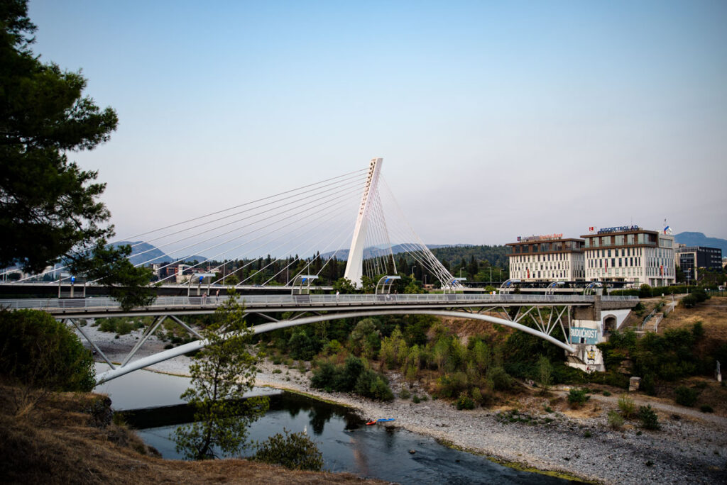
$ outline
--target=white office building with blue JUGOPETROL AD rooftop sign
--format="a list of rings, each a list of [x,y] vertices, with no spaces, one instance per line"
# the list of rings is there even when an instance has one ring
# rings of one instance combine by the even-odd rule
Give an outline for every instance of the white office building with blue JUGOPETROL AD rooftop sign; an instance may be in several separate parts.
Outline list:
[[[646,283],[666,286],[676,282],[674,236],[638,226],[606,227],[583,235],[585,274],[590,281]]]

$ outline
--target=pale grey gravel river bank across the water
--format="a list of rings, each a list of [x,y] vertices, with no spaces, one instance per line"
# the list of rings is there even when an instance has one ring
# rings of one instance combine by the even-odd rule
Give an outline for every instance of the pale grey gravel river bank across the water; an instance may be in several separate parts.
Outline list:
[[[95,327],[84,330],[87,329],[92,333],[89,336],[115,362],[124,358],[138,336],[122,335],[116,339],[113,334],[97,332]],[[154,354],[163,347],[163,342],[152,338],[142,347],[140,356]],[[156,364],[150,370],[188,375],[189,363],[190,359],[182,356]],[[344,404],[364,418],[393,417],[395,422],[391,425],[502,462],[608,484],[727,482],[727,420],[713,415],[701,417],[691,409],[680,412],[678,407],[649,400],[659,413],[660,431],[642,431],[628,424],[621,431],[612,431],[606,415],[616,405],[614,399],[602,399],[603,396],[594,396],[579,412],[553,404],[557,399],[521,397],[518,415],[515,415],[519,419],[511,420],[498,416],[503,409],[458,411],[441,400],[427,399],[414,404],[397,398],[382,403],[326,393],[310,388],[308,370],[269,361],[261,362],[259,367],[258,386],[284,388]],[[397,374],[392,373],[389,378],[396,395],[402,386],[409,388]],[[563,391],[555,391],[555,398],[559,392]],[[416,386],[411,394],[426,395]],[[553,412],[547,412],[546,407]]]

